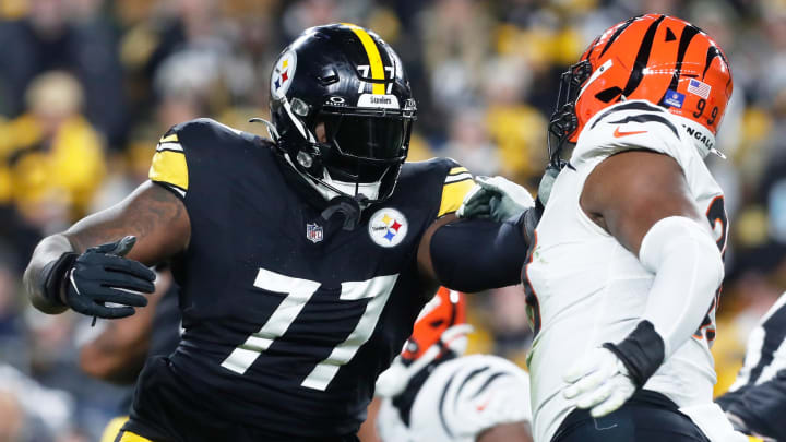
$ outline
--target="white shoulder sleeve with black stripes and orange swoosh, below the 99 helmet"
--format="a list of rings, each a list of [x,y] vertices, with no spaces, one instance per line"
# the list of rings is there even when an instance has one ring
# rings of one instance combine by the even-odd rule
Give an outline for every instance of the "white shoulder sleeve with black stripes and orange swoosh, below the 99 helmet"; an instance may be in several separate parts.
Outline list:
[[[599,111],[587,121],[570,163],[579,166],[632,150],[669,155],[684,168],[695,147],[687,140],[676,117],[666,109],[645,100],[628,100]]]

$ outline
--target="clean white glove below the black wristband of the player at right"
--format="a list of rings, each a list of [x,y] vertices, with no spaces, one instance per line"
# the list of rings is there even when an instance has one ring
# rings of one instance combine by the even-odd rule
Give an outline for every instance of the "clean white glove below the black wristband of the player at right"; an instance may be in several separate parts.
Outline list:
[[[562,379],[571,384],[563,391],[564,397],[579,408],[592,408],[595,418],[617,410],[636,390],[622,361],[602,347],[584,356]]]

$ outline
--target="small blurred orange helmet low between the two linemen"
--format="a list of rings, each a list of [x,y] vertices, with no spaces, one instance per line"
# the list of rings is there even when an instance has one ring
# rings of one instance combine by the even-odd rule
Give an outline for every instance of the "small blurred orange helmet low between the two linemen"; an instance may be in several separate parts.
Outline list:
[[[464,327],[456,327],[456,325],[465,324],[465,295],[461,291],[440,287],[437,295],[424,307],[417,321],[415,321],[412,336],[404,344],[401,354],[404,363],[420,358],[434,345],[439,346],[439,351],[434,354],[434,358],[443,356],[449,349],[453,349],[458,354],[464,353],[463,348],[454,347],[460,344],[457,339],[466,336],[471,328],[468,325]],[[465,342],[462,344],[466,345]]]

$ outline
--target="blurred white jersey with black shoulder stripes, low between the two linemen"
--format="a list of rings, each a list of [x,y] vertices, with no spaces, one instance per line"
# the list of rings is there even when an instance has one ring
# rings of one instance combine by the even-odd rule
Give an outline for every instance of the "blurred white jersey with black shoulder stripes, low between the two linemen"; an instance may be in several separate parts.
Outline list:
[[[408,409],[383,398],[377,430],[384,442],[474,442],[500,423],[531,420],[527,373],[500,357],[473,355],[438,365]]]

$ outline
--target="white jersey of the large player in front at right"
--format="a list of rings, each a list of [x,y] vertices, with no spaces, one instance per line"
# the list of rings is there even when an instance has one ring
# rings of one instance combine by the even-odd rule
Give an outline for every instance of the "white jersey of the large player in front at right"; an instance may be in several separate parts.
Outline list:
[[[529,316],[537,333],[528,360],[536,442],[550,441],[573,410],[562,395],[564,371],[586,351],[617,343],[633,331],[654,279],[633,253],[581,208],[579,199],[590,172],[605,158],[628,150],[674,157],[698,207],[707,213],[718,246],[725,244],[723,192],[680,120],[644,100],[604,109],[586,123],[571,166],[553,183],[536,229],[532,261],[525,266]],[[645,389],[680,407],[712,403],[714,307],[715,302],[700,331],[663,363]]]

